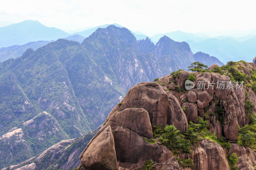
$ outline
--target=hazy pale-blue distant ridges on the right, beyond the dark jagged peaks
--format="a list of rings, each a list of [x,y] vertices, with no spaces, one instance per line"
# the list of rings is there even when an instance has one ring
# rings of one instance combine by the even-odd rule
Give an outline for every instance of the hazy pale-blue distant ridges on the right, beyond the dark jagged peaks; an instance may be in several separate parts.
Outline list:
[[[222,35],[215,38],[200,37],[193,33],[174,31],[170,33],[156,34],[151,40],[158,41],[164,35],[174,41],[188,42],[191,51],[196,53],[203,51],[209,55],[217,57],[221,62],[244,60],[252,62],[256,56],[256,34],[243,37],[233,37]]]

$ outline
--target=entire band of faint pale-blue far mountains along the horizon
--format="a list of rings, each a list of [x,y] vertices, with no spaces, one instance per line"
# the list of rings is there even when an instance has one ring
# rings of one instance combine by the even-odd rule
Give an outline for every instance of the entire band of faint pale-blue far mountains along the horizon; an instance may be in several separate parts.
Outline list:
[[[123,27],[119,24],[113,25]],[[89,29],[85,28],[83,31],[79,29],[78,32],[66,33],[54,27],[46,27],[38,21],[26,20],[17,24],[1,27],[0,62],[8,58],[19,57],[22,54],[21,51],[25,52],[26,50],[25,48],[19,51],[14,50],[12,47],[13,45],[22,45],[35,49],[36,47],[42,47],[41,42],[36,43],[35,41],[55,41],[59,38],[68,38],[76,34],[86,38],[96,31],[97,28],[105,28],[107,26],[109,26],[109,24],[96,26]],[[145,40],[147,37],[145,34],[140,32],[131,31],[131,33],[136,37],[137,40]],[[216,34],[216,36],[212,37],[203,33],[185,33],[182,31],[174,31],[170,33],[156,34],[149,38],[154,44],[156,44],[156,42],[158,42],[158,40],[164,35],[168,36],[174,41],[186,41],[188,42],[192,53],[203,51],[211,56],[217,57],[222,63],[226,63],[230,60],[239,61],[241,58],[249,62],[251,61],[251,58],[256,56],[256,51],[254,48],[256,43],[256,34],[253,30],[251,32],[241,32],[241,34],[238,33],[239,32],[236,32],[234,35]],[[82,37],[75,41],[81,42]],[[27,43],[29,42],[31,42],[31,46],[28,46]]]

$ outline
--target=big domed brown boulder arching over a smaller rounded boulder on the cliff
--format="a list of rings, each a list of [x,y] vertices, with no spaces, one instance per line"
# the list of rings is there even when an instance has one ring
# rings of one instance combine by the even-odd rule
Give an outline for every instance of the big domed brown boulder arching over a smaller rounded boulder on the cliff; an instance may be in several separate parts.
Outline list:
[[[156,82],[143,82],[134,85],[121,101],[122,105],[116,106],[111,111],[106,122],[114,112],[137,107],[143,108],[149,113],[152,126],[159,123],[165,126],[167,123],[168,95],[161,86]]]

